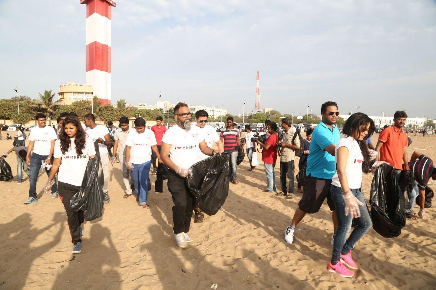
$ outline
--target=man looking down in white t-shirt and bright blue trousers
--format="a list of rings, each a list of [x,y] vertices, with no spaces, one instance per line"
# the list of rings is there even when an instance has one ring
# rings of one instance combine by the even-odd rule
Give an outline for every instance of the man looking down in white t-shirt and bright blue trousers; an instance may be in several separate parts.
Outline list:
[[[136,118],[133,122],[136,130],[131,130],[126,140],[126,167],[132,171],[136,195],[139,205],[145,210],[150,208],[147,203],[148,178],[151,167],[151,152],[153,151],[160,161],[159,150],[154,133],[146,129],[144,118]]]

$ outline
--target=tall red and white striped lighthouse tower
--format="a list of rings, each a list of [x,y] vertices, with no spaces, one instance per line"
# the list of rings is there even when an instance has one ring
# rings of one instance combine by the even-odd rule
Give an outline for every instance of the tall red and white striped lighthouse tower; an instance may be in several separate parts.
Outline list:
[[[102,104],[111,103],[112,0],[80,0],[86,4],[86,83]]]

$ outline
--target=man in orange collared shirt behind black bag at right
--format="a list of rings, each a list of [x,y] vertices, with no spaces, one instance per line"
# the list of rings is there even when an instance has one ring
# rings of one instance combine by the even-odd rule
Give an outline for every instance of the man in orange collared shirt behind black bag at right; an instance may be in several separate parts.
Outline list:
[[[378,137],[375,151],[378,152],[376,161],[386,161],[395,167],[397,179],[404,162],[404,169],[409,170],[406,147],[409,145],[407,134],[403,131],[407,114],[405,111],[396,111],[394,114],[394,125],[381,131]]]

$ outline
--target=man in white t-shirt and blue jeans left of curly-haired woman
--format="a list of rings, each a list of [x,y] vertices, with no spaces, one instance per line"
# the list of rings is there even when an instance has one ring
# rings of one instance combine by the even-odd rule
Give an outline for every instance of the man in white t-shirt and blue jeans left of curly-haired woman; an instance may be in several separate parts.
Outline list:
[[[29,198],[24,204],[37,202],[36,199],[36,181],[42,161],[45,164],[52,163],[54,150],[54,140],[58,139],[56,132],[50,126],[46,126],[47,119],[43,113],[37,113],[35,117],[38,126],[33,127],[29,136],[29,147],[27,150],[26,163],[30,166],[30,185]],[[32,153],[33,150],[33,153]],[[45,168],[47,175],[50,175],[50,169]],[[56,180],[51,187],[51,198],[58,198],[58,186]]]

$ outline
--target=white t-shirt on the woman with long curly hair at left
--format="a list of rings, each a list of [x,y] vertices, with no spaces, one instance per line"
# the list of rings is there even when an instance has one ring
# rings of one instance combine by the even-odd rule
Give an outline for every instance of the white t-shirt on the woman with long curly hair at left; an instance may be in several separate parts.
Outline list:
[[[74,138],[71,138],[70,150],[62,154],[61,142],[54,141],[54,158],[62,158],[61,166],[58,171],[58,180],[75,186],[81,186],[83,176],[85,175],[86,164],[88,164],[89,156],[95,155],[95,148],[89,137],[86,137],[85,148],[82,155],[76,152]]]

